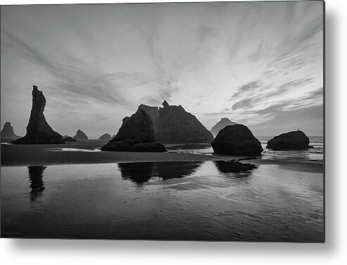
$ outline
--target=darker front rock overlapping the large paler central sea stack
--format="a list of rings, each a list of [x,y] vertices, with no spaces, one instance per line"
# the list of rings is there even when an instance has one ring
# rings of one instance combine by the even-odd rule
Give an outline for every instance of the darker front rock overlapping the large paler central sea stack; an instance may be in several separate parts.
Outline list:
[[[165,152],[163,144],[154,142],[154,130],[151,117],[138,109],[130,117],[123,118],[117,135],[101,147],[102,151],[122,152]]]

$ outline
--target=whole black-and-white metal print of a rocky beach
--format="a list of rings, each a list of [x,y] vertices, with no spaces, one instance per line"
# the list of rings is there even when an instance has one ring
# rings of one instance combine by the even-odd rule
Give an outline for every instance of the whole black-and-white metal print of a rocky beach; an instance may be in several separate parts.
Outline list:
[[[324,242],[324,2],[1,6],[1,237]]]

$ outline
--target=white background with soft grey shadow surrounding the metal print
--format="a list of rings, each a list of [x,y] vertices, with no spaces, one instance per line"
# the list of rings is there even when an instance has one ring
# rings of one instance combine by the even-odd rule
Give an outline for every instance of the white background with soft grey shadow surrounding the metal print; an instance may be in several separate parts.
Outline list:
[[[1,5],[115,2],[124,1],[0,0]],[[325,244],[0,239],[1,264],[346,264],[346,6],[347,1],[326,1]]]

